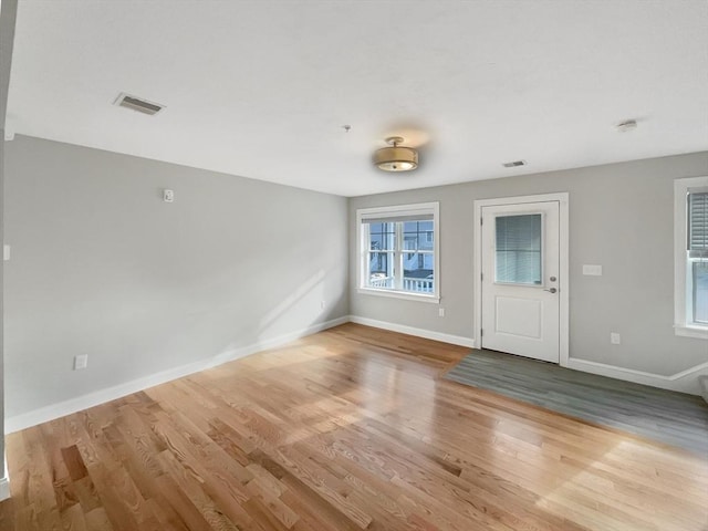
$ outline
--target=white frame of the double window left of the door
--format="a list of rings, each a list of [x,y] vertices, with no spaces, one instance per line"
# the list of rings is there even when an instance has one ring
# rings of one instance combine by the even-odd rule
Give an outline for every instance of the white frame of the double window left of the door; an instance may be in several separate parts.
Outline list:
[[[433,293],[413,293],[396,289],[376,289],[366,285],[366,270],[368,256],[368,233],[364,229],[366,219],[395,218],[400,216],[433,215],[433,253],[435,272],[433,274]],[[398,235],[402,236],[402,235]],[[397,246],[403,246],[403,238],[397,238]],[[415,205],[395,205],[389,207],[360,208],[356,210],[356,246],[357,246],[357,292],[368,295],[392,296],[421,302],[440,302],[440,204],[419,202]],[[399,253],[405,252],[400,249]]]

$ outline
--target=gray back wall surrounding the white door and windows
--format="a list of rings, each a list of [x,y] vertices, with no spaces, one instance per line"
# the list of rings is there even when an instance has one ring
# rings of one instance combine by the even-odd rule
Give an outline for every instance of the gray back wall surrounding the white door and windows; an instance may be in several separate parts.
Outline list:
[[[356,292],[351,248],[350,313],[424,330],[473,336],[472,205],[476,199],[570,192],[570,355],[670,375],[708,361],[705,340],[674,335],[674,179],[708,175],[708,153],[442,186],[350,200],[357,208],[440,201],[441,301]],[[405,178],[403,176],[402,178]],[[602,277],[582,264],[602,264]],[[610,332],[622,334],[610,344]]]

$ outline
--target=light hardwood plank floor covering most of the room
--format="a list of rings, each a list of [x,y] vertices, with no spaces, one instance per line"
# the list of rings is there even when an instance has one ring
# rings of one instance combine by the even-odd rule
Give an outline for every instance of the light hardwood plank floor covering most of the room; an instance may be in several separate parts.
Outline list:
[[[2,530],[708,529],[708,457],[441,379],[345,324],[7,438]]]

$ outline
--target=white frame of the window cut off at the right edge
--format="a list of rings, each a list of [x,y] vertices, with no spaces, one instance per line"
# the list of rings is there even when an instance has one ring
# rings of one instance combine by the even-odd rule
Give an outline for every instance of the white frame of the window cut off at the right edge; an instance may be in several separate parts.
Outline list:
[[[674,181],[674,332],[686,337],[708,340],[708,326],[689,322],[693,314],[690,261],[687,256],[688,212],[686,195],[691,188],[708,187],[708,176]]]

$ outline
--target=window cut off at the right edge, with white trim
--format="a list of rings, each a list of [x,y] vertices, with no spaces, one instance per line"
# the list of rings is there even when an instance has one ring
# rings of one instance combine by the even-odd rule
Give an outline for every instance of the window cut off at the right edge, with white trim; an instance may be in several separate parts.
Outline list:
[[[675,330],[708,339],[708,177],[675,181]]]

